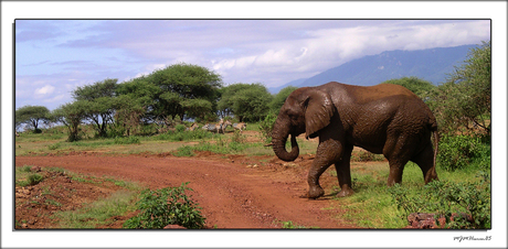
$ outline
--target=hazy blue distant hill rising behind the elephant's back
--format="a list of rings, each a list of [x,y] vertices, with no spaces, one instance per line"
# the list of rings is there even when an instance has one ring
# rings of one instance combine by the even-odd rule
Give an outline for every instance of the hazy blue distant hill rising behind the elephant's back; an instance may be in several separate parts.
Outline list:
[[[444,83],[446,74],[453,73],[454,66],[458,66],[464,62],[469,50],[476,46],[463,45],[420,51],[387,51],[378,55],[353,59],[310,78],[293,80],[268,90],[278,93],[278,90],[287,86],[318,86],[329,82],[372,86],[388,79],[404,76],[415,76],[437,85]]]

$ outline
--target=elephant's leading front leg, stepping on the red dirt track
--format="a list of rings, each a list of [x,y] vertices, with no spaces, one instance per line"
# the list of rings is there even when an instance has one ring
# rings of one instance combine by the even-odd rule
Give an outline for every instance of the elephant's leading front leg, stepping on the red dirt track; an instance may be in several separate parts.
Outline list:
[[[319,185],[319,177],[332,163],[340,160],[341,154],[342,145],[338,141],[332,139],[320,141],[307,178],[309,198],[318,198],[325,195],[325,191]]]

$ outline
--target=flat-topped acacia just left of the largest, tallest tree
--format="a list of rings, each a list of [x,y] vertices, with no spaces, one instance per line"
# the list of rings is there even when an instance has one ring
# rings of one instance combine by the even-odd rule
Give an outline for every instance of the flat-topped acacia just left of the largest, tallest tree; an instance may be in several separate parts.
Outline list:
[[[107,124],[113,121],[114,97],[118,79],[104,79],[92,85],[77,87],[72,96],[77,101],[87,101],[85,118],[92,121],[99,137],[106,137]]]

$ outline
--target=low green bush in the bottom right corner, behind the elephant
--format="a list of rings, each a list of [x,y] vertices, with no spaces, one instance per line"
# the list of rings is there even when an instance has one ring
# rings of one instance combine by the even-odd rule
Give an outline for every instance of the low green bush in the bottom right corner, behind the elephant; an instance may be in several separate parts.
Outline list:
[[[389,192],[405,217],[411,213],[433,213],[435,218],[446,218],[446,228],[490,229],[490,175],[479,172],[478,176],[479,183],[433,181],[421,193],[410,193],[395,184]],[[452,220],[453,214],[470,215],[473,223],[462,215]]]

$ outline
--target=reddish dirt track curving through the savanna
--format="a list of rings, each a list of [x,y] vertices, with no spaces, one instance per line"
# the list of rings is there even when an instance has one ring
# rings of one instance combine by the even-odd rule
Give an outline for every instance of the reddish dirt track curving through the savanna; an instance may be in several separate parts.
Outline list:
[[[201,212],[209,228],[269,229],[281,228],[281,221],[289,220],[308,228],[354,228],[337,218],[338,201],[301,197],[307,191],[307,166],[283,165],[277,159],[261,166],[251,166],[254,164],[251,162],[252,159],[243,155],[210,154],[198,158],[89,153],[15,156],[17,166],[63,167],[87,175],[139,182],[152,190],[190,182],[188,186],[193,190],[190,195],[203,208]],[[309,162],[300,160],[300,165]],[[337,185],[336,181],[321,176],[327,194]]]

